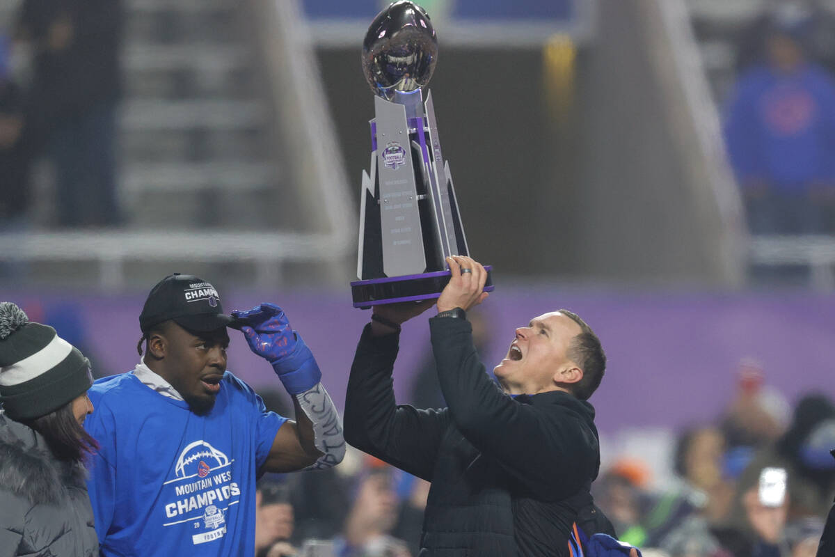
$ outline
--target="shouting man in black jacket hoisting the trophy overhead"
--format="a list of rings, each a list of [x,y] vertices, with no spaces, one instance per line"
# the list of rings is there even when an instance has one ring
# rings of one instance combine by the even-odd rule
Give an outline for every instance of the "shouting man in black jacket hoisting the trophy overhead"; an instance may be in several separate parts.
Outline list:
[[[432,302],[375,306],[348,382],[347,442],[432,482],[422,556],[568,555],[575,521],[614,535],[589,494],[600,448],[585,399],[603,377],[600,340],[569,311],[535,317],[494,370],[500,390],[464,313],[488,296],[487,273],[468,257],[448,264],[429,320],[448,408],[397,406],[392,392],[400,324]]]

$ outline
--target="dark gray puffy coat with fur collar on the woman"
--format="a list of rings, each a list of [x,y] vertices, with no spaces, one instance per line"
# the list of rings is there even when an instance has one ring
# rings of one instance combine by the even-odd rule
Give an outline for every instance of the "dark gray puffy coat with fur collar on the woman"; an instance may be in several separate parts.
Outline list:
[[[0,556],[99,554],[77,463],[62,463],[33,429],[0,413]]]

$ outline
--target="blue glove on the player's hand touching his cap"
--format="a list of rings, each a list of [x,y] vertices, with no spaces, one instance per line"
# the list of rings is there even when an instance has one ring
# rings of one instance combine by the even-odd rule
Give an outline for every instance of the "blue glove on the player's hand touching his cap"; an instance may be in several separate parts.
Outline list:
[[[321,381],[310,348],[292,330],[281,307],[264,303],[247,311],[232,311],[247,344],[272,364],[287,392],[300,394]]]

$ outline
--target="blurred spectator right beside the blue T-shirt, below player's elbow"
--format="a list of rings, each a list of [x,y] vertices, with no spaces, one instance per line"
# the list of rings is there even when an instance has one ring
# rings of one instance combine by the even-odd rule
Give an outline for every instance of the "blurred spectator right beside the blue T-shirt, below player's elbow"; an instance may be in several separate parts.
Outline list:
[[[256,557],[292,557],[293,507],[289,490],[276,480],[262,478],[256,485]]]

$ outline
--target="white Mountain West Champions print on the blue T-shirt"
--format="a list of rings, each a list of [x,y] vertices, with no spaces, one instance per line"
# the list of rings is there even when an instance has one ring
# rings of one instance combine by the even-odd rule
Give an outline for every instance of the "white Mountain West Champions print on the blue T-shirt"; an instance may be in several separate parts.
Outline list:
[[[174,468],[174,478],[166,481],[164,526],[200,529],[192,534],[193,544],[205,544],[226,534],[226,512],[240,502],[240,488],[232,481],[230,460],[222,451],[202,439],[187,445]]]

